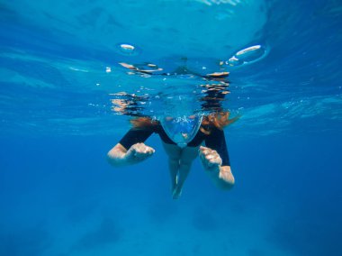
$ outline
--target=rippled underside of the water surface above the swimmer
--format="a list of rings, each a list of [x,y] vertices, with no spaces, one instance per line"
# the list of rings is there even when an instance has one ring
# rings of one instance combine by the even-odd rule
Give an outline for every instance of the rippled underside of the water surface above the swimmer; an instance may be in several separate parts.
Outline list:
[[[82,3],[1,5],[4,133],[112,133],[116,114],[202,111],[205,86],[224,83],[245,133],[341,122],[338,1]]]

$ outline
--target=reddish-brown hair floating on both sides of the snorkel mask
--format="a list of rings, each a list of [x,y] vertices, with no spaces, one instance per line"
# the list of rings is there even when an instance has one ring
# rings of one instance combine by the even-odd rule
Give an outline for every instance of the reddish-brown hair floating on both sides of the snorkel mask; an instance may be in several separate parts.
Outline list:
[[[229,119],[229,114],[229,111],[226,111],[204,115],[202,119],[202,125],[200,128],[201,132],[205,134],[210,134],[211,128],[213,127],[223,130],[224,127],[236,122],[238,118],[240,118],[240,115],[237,115]],[[151,126],[156,126],[159,122],[156,119],[152,119],[150,117],[137,117],[131,119],[130,123],[134,128],[143,129]]]

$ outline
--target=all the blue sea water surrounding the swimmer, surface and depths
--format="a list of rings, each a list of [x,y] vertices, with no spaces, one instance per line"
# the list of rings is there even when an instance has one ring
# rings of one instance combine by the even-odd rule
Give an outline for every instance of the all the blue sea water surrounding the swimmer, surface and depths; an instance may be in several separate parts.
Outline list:
[[[0,255],[342,255],[341,43],[334,0],[0,1]],[[173,200],[157,136],[107,163],[130,115],[197,113],[219,71],[232,190],[195,160]]]

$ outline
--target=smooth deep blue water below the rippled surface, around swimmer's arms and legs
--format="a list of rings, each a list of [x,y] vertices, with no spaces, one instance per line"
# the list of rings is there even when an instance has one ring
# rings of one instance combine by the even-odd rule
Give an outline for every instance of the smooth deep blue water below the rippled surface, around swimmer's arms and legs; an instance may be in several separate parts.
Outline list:
[[[157,137],[154,158],[123,169],[105,160],[118,138],[4,139],[0,254],[338,255],[340,133],[227,134],[236,187],[217,190],[196,160],[178,202]]]

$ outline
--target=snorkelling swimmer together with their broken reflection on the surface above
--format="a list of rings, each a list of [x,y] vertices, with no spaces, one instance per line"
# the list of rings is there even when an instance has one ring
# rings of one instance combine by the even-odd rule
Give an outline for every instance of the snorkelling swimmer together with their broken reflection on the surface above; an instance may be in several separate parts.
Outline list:
[[[148,67],[153,67],[153,70],[140,69],[139,66],[127,63],[119,64],[138,75],[152,75],[154,71],[162,70],[158,69],[157,65],[151,66],[151,64]],[[159,74],[158,76],[169,75]],[[229,72],[215,72],[202,76],[188,70],[186,67],[180,67],[172,75],[191,75],[203,78],[206,81],[220,81],[219,85],[202,85],[206,89],[206,96],[202,98],[202,111],[207,112],[209,110],[211,114],[202,115],[201,118],[198,118],[198,115],[183,115],[176,118],[166,117],[162,122],[141,116],[132,119],[130,123],[133,127],[108,152],[109,162],[114,167],[120,167],[148,159],[155,150],[144,142],[152,133],[157,133],[168,156],[171,190],[174,199],[181,196],[184,181],[190,172],[193,160],[198,155],[204,170],[217,187],[221,189],[233,187],[235,179],[230,169],[229,153],[223,128],[237,121],[239,116],[229,119],[229,112],[223,112],[220,105],[224,96],[228,93],[229,82],[225,78],[228,77]],[[136,99],[136,96],[133,96],[127,102],[125,100],[114,100],[116,101],[114,102],[116,105],[114,111],[129,114],[127,109],[139,110],[134,105],[134,99]],[[177,135],[178,139],[175,140]],[[180,145],[178,142],[182,141],[182,139],[186,143]],[[204,143],[204,146],[202,146],[202,143]]]

